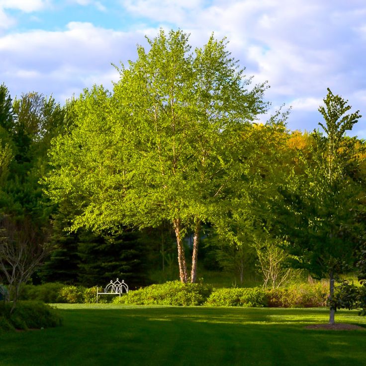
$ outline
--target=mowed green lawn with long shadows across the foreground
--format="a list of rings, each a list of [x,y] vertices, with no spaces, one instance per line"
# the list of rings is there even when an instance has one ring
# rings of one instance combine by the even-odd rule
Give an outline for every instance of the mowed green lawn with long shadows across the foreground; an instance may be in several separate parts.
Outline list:
[[[327,309],[57,305],[58,328],[0,334],[0,365],[366,365],[366,330]],[[366,327],[356,311],[336,321]]]

